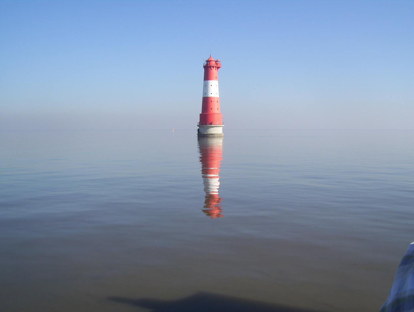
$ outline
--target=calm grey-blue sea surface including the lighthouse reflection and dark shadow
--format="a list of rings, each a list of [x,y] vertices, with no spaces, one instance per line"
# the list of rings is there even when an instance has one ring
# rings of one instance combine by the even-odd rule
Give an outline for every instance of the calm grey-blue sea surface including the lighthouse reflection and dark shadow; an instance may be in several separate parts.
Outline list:
[[[224,131],[0,132],[0,311],[378,311],[414,131]]]

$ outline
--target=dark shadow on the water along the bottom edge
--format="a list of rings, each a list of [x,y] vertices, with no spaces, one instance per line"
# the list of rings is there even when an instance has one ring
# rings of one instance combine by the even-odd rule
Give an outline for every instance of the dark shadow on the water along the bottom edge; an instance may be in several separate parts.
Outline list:
[[[152,309],[151,312],[320,312],[204,292],[178,300],[126,297],[108,297],[108,299]]]

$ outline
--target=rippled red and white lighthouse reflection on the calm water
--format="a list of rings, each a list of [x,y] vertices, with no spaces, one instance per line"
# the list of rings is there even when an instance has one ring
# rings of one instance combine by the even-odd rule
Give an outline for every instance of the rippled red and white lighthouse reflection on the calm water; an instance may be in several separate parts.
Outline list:
[[[219,218],[221,214],[221,198],[219,197],[219,167],[222,159],[223,138],[198,137],[201,175],[206,193],[204,209],[210,218]]]

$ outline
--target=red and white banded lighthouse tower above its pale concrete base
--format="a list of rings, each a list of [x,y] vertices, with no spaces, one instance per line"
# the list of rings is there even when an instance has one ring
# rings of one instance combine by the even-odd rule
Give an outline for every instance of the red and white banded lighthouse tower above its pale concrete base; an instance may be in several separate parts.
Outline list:
[[[221,67],[220,60],[210,57],[204,65],[203,100],[200,114],[200,125],[221,125],[219,81],[217,72]]]

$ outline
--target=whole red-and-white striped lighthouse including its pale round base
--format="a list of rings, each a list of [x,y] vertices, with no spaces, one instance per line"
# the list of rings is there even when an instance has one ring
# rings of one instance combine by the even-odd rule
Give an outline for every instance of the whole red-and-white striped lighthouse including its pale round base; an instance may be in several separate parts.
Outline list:
[[[217,72],[220,60],[210,57],[204,62],[203,100],[200,122],[197,123],[199,136],[223,136],[223,121],[220,113],[219,80]]]

